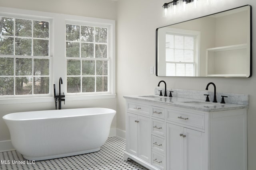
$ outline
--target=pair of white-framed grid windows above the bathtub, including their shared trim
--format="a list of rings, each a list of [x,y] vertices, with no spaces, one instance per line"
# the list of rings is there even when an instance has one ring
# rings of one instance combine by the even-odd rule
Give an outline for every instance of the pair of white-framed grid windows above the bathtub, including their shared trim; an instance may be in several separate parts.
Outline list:
[[[115,97],[114,20],[0,9],[1,102],[52,101],[60,77],[67,100]]]

